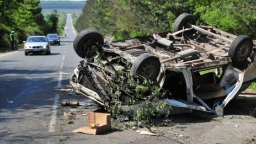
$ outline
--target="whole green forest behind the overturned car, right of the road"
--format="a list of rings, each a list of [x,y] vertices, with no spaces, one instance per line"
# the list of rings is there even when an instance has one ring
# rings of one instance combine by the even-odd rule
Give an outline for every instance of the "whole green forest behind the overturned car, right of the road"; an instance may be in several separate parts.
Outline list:
[[[178,15],[191,13],[197,20],[232,34],[256,38],[254,0],[87,0],[76,30],[98,29],[115,40],[172,31]]]

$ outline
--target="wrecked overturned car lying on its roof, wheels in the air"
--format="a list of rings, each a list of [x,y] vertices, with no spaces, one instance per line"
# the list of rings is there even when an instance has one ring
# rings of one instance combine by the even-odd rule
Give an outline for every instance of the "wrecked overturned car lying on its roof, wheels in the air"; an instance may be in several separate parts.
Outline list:
[[[196,26],[188,13],[175,20],[173,33],[113,41],[110,35],[103,39],[97,30],[86,29],[73,45],[84,60],[70,83],[77,93],[100,105],[114,97],[106,83],[111,74],[118,77],[119,70],[139,74],[168,90],[170,95],[161,100],[172,105],[173,114],[192,109],[223,115],[223,108],[256,78],[255,42],[249,36]],[[125,101],[130,96],[122,97]],[[131,109],[124,105],[124,110]],[[132,110],[136,113],[136,106]]]

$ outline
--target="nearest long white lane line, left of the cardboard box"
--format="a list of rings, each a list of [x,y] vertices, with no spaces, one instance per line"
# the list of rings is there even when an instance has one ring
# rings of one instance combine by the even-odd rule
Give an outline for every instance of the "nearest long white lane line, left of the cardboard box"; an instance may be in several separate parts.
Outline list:
[[[60,86],[61,86],[61,81],[62,81],[62,71],[60,72],[60,75],[58,76],[58,84],[57,84],[58,88],[60,88]],[[56,125],[56,119],[57,119],[57,108],[58,108],[59,101],[60,101],[60,95],[55,94],[54,106],[52,106],[52,114],[51,114],[49,132],[55,131],[55,125]]]

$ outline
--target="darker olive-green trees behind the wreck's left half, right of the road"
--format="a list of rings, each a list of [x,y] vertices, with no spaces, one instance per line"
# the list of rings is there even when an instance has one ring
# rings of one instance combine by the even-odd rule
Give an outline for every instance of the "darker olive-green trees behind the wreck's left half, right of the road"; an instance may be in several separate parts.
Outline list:
[[[188,8],[188,2],[179,0],[88,0],[75,27],[78,31],[95,28],[115,39],[148,35],[170,30]]]

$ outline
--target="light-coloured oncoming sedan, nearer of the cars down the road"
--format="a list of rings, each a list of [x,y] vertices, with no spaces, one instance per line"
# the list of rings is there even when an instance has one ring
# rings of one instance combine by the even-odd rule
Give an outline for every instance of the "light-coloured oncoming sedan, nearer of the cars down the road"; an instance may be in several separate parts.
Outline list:
[[[45,36],[29,36],[29,38],[24,42],[25,55],[30,53],[51,54],[50,42]]]

